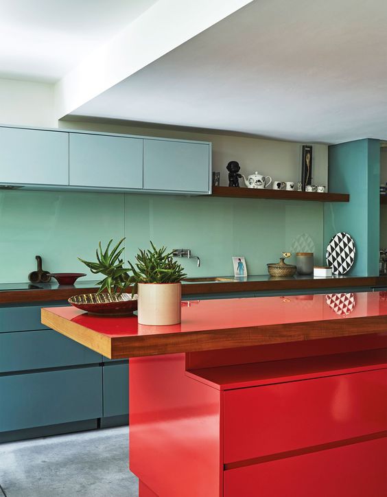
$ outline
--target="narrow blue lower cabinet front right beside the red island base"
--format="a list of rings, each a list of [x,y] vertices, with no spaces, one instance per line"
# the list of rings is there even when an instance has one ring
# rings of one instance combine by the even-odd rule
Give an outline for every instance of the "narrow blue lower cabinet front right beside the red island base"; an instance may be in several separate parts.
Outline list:
[[[129,365],[110,362],[104,366],[104,417],[129,413]]]

